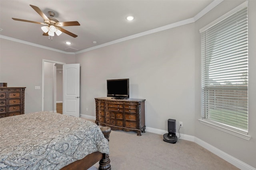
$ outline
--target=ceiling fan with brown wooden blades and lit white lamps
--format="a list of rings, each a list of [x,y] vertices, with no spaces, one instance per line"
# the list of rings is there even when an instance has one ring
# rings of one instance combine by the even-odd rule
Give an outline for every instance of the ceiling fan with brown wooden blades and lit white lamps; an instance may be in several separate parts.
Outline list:
[[[22,20],[18,18],[12,18],[12,19],[16,21],[24,21],[24,22],[31,22],[31,23],[46,25],[41,27],[41,29],[44,31],[43,35],[49,35],[53,37],[54,33],[56,33],[56,35],[60,35],[62,32],[64,32],[74,38],[77,37],[77,35],[67,31],[66,29],[63,29],[62,27],[80,25],[78,21],[59,22],[58,20],[53,18],[55,16],[54,12],[49,11],[48,14],[50,15],[50,17],[47,17],[37,6],[34,6],[34,5],[30,5],[30,6],[44,19],[44,23],[37,22],[37,21]]]

